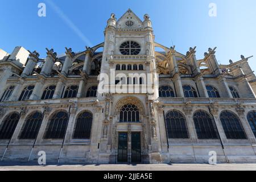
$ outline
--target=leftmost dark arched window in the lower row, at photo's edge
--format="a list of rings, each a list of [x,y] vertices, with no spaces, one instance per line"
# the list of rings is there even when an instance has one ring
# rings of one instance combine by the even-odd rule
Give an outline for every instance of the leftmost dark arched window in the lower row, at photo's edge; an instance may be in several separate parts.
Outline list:
[[[0,125],[0,139],[11,139],[14,130],[19,122],[19,114],[9,114]]]

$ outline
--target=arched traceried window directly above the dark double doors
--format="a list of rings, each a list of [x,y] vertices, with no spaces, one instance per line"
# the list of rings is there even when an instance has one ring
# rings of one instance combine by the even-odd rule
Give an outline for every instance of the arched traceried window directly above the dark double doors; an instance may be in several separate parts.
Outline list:
[[[139,122],[139,109],[133,104],[126,104],[120,110],[119,122]]]

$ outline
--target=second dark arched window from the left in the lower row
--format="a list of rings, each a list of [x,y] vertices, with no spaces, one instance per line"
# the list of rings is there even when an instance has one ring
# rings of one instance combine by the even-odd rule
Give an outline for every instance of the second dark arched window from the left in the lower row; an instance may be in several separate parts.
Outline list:
[[[43,114],[39,112],[30,114],[30,116],[27,117],[26,122],[23,125],[23,129],[20,133],[19,139],[35,139],[36,135],[38,135],[42,120]]]

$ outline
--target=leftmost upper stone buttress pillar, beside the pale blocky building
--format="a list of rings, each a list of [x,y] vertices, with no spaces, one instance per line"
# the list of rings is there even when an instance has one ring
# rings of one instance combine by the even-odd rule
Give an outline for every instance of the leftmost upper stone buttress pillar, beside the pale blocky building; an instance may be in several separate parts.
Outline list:
[[[26,67],[23,69],[22,72],[22,77],[27,77],[30,76],[33,72],[33,69],[35,68],[36,63],[38,63],[38,59],[39,59],[39,53],[34,51],[34,52],[30,52],[30,57],[28,57],[28,61],[26,64]]]

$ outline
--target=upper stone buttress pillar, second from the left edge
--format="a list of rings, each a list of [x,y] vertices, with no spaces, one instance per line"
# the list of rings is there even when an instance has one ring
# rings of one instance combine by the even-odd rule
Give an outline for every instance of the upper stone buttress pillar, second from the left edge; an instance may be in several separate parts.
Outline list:
[[[53,49],[48,50],[47,49],[47,57],[46,61],[43,65],[42,71],[40,75],[43,75],[45,77],[51,75],[52,67],[54,65],[54,62],[56,60],[57,53],[53,51]]]

